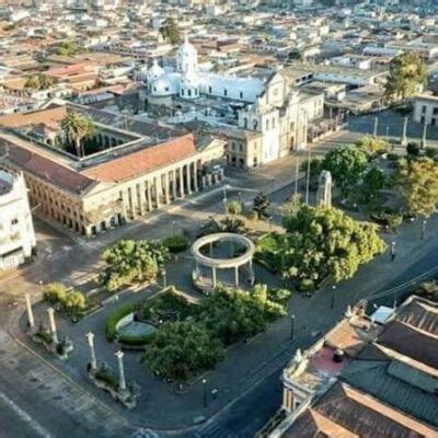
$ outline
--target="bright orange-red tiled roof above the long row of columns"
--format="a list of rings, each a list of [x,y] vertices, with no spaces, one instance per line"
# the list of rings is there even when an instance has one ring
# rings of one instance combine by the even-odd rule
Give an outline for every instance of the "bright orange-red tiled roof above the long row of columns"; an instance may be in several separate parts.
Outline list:
[[[195,152],[194,138],[188,134],[90,168],[83,174],[102,182],[120,182],[176,163],[193,155]]]

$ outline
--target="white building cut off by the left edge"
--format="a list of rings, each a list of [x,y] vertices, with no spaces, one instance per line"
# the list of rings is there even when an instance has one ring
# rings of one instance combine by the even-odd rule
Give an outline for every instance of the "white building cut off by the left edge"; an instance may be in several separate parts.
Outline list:
[[[24,263],[35,245],[24,177],[0,166],[0,270]]]

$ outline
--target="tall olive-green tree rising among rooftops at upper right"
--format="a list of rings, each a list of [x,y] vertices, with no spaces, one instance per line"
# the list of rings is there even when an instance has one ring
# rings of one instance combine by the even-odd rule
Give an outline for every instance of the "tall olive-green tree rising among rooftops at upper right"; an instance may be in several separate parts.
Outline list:
[[[418,85],[426,84],[427,70],[417,54],[402,54],[390,62],[390,74],[384,85],[388,101],[396,102],[416,94]]]

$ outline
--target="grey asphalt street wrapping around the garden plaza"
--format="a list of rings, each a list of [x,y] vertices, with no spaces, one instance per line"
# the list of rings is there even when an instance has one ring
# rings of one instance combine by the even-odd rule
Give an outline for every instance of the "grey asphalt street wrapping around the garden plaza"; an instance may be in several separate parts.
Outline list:
[[[337,132],[313,146],[313,153],[324,153],[334,145],[351,142],[362,132],[372,130],[373,116],[366,117],[351,120],[354,131]],[[389,124],[389,135],[395,138],[399,123],[400,118],[391,115],[384,118],[382,126]],[[411,135],[418,138],[420,134],[414,127],[412,129]],[[433,136],[438,139],[437,130],[430,132]],[[299,157],[300,160],[306,158],[304,152]],[[289,157],[250,174],[230,172],[226,181],[228,199],[242,197],[246,204],[251,204],[257,192],[265,192],[269,193],[273,206],[278,207],[293,193],[295,160],[297,157]],[[364,266],[351,280],[339,285],[333,311],[328,311],[330,293],[324,290],[311,299],[295,295],[289,308],[298,319],[296,339],[289,339],[288,319],[274,324],[249,346],[247,351],[266,349],[266,360],[253,374],[246,373],[246,384],[243,376],[241,385],[234,389],[238,396],[230,389],[232,401],[216,413],[211,412],[210,419],[198,427],[177,433],[149,427],[148,424],[154,423],[152,418],[143,418],[142,424],[129,424],[120,410],[112,406],[111,401],[105,399],[105,403],[101,403],[94,393],[56,372],[10,336],[10,326],[16,322],[15,315],[19,310],[23,311],[24,293],[31,293],[37,300],[43,285],[48,281],[59,280],[67,285],[84,283],[99,270],[101,252],[122,238],[163,238],[170,235],[172,222],[176,223],[177,232],[186,230],[194,234],[209,216],[223,212],[222,200],[223,187],[194,195],[91,241],[55,231],[36,221],[41,238],[37,261],[16,273],[0,276],[1,437],[60,437],[67,431],[74,437],[253,437],[280,406],[280,370],[297,347],[310,346],[315,341],[312,333],[328,328],[343,314],[347,304],[415,278],[435,267],[438,260],[438,240],[435,239],[438,220],[433,217],[426,240],[419,239],[417,222],[403,224],[396,235],[385,234],[387,242],[394,239],[397,242],[395,261],[391,263],[385,253]],[[237,351],[235,358],[239,357]],[[227,362],[221,364],[219,372],[222,368],[227,370]],[[157,410],[160,408],[158,405]]]

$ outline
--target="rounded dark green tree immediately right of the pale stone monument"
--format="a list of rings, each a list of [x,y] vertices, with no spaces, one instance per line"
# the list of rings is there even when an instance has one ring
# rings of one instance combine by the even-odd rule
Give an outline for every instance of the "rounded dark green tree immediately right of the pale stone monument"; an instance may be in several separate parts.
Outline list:
[[[322,168],[332,173],[336,185],[345,196],[362,176],[368,164],[368,155],[354,146],[343,146],[330,151]]]

